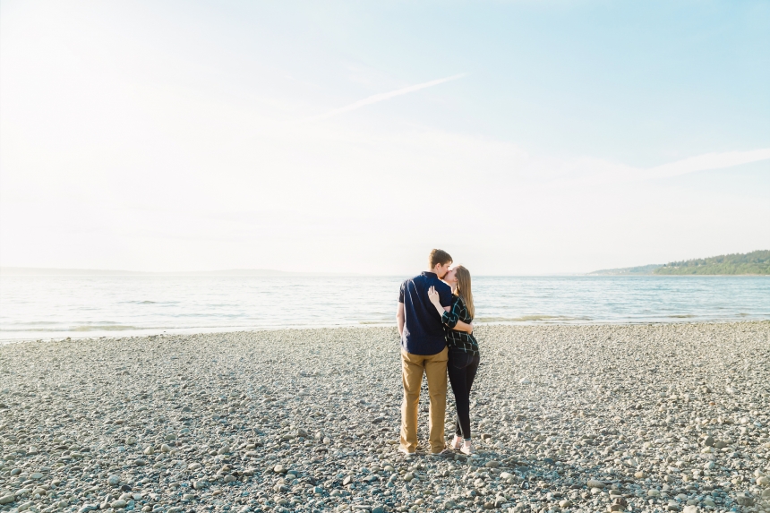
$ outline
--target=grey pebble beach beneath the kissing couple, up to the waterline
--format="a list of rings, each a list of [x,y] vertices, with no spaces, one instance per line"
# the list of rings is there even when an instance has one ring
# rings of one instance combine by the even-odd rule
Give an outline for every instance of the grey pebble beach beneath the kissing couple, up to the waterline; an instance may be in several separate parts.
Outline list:
[[[475,334],[441,458],[398,453],[395,328],[0,346],[0,511],[770,513],[770,322]]]

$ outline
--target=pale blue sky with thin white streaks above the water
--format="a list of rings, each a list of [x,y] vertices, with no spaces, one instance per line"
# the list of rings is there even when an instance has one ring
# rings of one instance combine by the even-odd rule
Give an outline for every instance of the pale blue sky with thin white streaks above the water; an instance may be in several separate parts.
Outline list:
[[[770,249],[770,3],[0,1],[0,264]]]

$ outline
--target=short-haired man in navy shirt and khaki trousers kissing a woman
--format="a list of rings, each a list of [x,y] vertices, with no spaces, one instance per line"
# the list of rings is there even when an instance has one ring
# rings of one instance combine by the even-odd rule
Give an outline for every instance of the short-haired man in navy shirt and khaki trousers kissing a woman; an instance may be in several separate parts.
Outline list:
[[[445,447],[444,415],[447,408],[447,343],[441,317],[428,299],[428,289],[435,287],[441,306],[449,312],[452,289],[441,281],[449,271],[452,257],[448,252],[432,250],[429,270],[401,284],[398,294],[398,333],[401,335],[401,380],[404,402],[401,405],[401,443],[406,455],[417,449],[417,406],[423,372],[428,379],[430,403],[431,453],[441,455]]]

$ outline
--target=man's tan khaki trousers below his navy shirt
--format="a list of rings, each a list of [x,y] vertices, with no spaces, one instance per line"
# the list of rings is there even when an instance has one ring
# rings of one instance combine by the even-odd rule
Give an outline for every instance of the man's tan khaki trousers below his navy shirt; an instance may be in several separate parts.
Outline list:
[[[447,412],[447,348],[436,355],[412,355],[401,349],[401,380],[404,382],[404,402],[401,405],[401,444],[405,452],[417,449],[417,406],[420,403],[420,387],[423,372],[428,378],[430,403],[431,452],[441,452],[444,447],[444,420]]]

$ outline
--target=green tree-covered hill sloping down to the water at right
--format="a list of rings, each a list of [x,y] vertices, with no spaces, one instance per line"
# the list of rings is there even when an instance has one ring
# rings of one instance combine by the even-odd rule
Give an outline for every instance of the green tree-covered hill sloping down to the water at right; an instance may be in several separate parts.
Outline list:
[[[620,269],[602,269],[588,273],[595,276],[644,275],[770,275],[770,251],[734,253],[705,259],[672,261]]]

